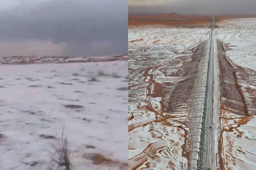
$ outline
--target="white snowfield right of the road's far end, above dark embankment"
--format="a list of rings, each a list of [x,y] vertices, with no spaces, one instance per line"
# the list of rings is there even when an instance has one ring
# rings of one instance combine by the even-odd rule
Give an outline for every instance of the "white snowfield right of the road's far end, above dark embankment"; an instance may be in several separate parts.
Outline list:
[[[256,18],[233,18],[216,23],[215,37],[230,45],[226,51],[236,65],[256,70]]]

